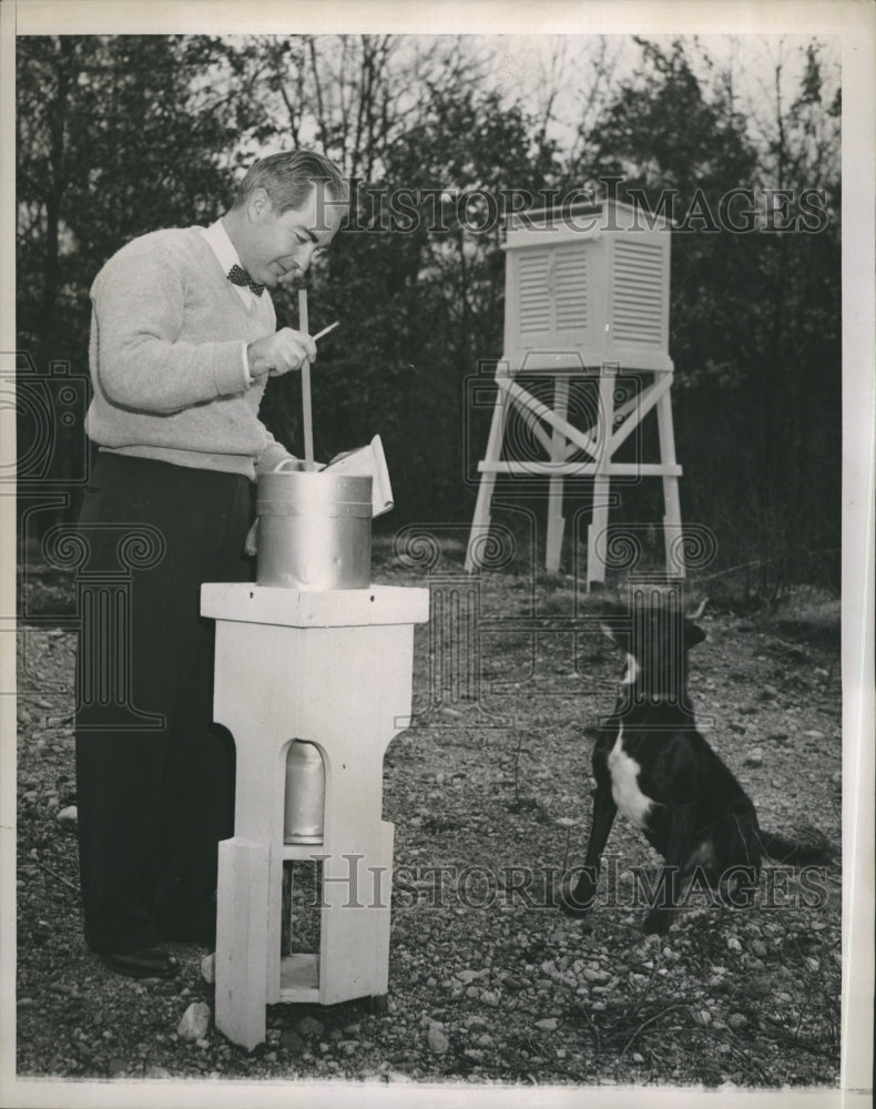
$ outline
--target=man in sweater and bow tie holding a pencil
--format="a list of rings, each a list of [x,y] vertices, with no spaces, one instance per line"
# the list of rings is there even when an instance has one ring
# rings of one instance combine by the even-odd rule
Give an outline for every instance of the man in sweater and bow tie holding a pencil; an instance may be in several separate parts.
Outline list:
[[[215,935],[234,746],[212,720],[200,587],[249,577],[254,481],[291,457],[258,419],[265,383],[316,357],[309,335],[276,329],[267,289],[307,271],[346,205],[332,162],[274,154],[211,227],[134,240],[92,286],[99,455],[80,528],[92,580],[120,560],[129,578],[123,621],[94,590],[83,615],[77,801],[85,938],[122,974],[170,977],[162,940]]]

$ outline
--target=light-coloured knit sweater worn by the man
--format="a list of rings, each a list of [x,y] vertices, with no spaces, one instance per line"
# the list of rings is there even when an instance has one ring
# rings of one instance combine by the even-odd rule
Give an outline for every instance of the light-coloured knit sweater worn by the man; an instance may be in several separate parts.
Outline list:
[[[276,330],[271,294],[247,312],[198,227],[123,246],[91,288],[85,429],[103,450],[244,474],[288,451],[258,419],[242,344]]]

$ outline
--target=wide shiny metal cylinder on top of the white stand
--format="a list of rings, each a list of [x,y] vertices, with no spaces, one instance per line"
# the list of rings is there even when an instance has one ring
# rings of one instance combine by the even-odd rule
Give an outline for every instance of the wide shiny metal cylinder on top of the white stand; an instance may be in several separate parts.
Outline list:
[[[259,586],[367,589],[371,583],[371,479],[324,470],[258,478]]]

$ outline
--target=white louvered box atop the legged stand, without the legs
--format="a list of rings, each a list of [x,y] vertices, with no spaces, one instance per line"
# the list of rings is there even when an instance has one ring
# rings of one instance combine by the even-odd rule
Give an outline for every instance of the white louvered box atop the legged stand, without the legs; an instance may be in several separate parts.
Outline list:
[[[505,353],[512,372],[672,370],[670,231],[627,204],[520,213],[505,244]]]

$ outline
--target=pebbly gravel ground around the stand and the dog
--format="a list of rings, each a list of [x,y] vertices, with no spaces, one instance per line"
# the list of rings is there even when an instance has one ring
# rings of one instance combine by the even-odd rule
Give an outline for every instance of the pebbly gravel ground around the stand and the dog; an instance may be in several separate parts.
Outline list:
[[[393,562],[376,577],[427,583]],[[455,580],[434,573],[434,600],[458,596],[467,579]],[[415,723],[385,764],[396,825],[388,1010],[272,1006],[267,1042],[252,1054],[210,1020],[205,948],[174,947],[173,983],[119,977],[85,949],[74,639],[63,620],[22,627],[19,1076],[835,1087],[838,864],[767,866],[751,909],[694,898],[668,936],[644,937],[634,894],[658,858],[618,822],[592,915],[570,922],[551,907],[559,876],[582,862],[584,730],[610,710],[620,661],[572,625],[572,586],[485,576],[465,629],[434,606],[416,635]],[[814,599],[770,619],[717,611],[703,627],[691,690],[711,742],[765,827],[816,825],[838,852],[838,604]],[[468,670],[447,669],[452,652]],[[306,930],[307,904],[295,912]],[[201,1026],[181,1026],[186,1013]]]

